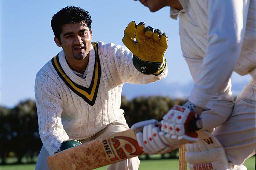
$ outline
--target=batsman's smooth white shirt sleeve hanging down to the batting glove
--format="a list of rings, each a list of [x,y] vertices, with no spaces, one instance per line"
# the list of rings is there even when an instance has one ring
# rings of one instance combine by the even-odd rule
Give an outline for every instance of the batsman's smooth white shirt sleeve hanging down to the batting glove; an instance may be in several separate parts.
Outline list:
[[[188,100],[205,107],[226,86],[240,55],[249,2],[247,0],[209,0],[209,44],[201,71]]]

